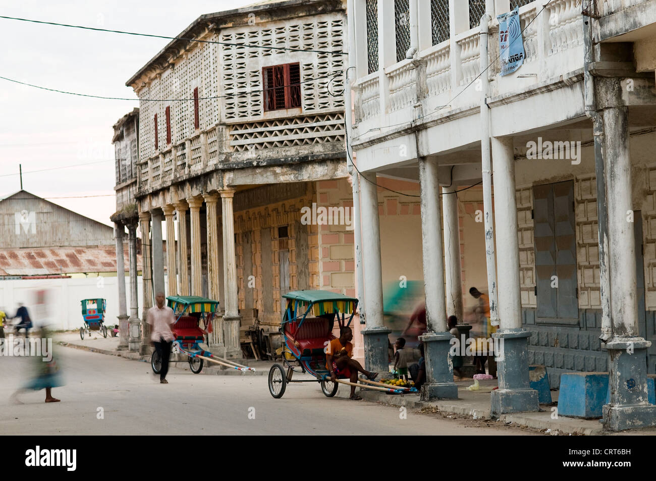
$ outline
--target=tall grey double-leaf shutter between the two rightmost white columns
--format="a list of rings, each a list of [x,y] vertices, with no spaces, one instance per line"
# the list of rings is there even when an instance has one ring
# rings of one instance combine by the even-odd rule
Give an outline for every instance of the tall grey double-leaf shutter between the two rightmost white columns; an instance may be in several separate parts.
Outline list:
[[[574,182],[533,186],[537,318],[578,321]],[[552,287],[553,276],[558,287]]]

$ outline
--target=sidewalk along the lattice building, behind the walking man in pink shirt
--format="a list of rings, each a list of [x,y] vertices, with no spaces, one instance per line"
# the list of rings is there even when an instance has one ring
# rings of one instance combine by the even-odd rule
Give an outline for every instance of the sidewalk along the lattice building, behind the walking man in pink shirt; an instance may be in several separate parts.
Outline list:
[[[66,332],[58,333],[56,335],[56,343],[61,346],[72,347],[76,349],[84,349],[89,352],[99,352],[100,354],[108,354],[110,356],[119,356],[121,358],[127,358],[131,360],[144,361],[150,363],[150,354],[148,356],[141,356],[138,352],[130,352],[129,350],[118,350],[119,338],[110,337],[108,334],[107,338],[102,337],[102,334],[98,332],[91,332],[91,337],[85,335],[85,339],[80,339],[79,332]],[[173,356],[173,354],[172,354]],[[186,356],[185,356],[186,357]],[[180,360],[182,360],[180,356]],[[186,360],[185,360],[186,361]],[[268,375],[269,369],[271,366],[276,364],[273,361],[255,361],[248,360],[237,360],[239,364],[244,366],[253,367],[253,371],[237,371],[237,369],[230,369],[228,367],[222,367],[218,364],[213,364],[211,362],[205,361],[202,374],[212,374],[212,375],[223,375],[223,376],[253,376],[253,375]],[[173,362],[171,367],[176,367],[178,369],[183,369],[189,371],[188,362]]]

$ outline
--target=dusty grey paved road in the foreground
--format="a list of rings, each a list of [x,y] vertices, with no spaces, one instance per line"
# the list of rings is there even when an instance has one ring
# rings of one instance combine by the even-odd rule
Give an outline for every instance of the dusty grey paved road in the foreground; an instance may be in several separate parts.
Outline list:
[[[273,399],[266,377],[194,375],[171,369],[160,385],[150,364],[59,347],[66,386],[62,402],[45,404],[45,391],[10,394],[28,375],[24,358],[0,357],[0,432],[3,434],[529,434],[466,421],[436,419],[398,408],[325,398],[318,385],[289,385]],[[340,387],[340,389],[343,387]],[[98,408],[104,419],[98,419]],[[249,419],[255,414],[255,419]]]

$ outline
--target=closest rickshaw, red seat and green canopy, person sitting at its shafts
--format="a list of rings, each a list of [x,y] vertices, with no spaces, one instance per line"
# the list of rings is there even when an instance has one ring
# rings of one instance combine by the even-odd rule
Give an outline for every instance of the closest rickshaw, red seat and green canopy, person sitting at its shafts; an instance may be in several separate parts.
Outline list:
[[[270,394],[279,399],[285,394],[287,383],[320,383],[325,396],[337,394],[339,383],[351,385],[338,379],[331,381],[326,369],[326,346],[335,339],[335,320],[339,327],[348,327],[358,306],[358,299],[331,291],[291,291],[283,295],[286,299],[285,313],[280,326],[283,336],[284,367],[274,364],[269,370]],[[350,314],[348,319],[346,316]],[[300,369],[298,369],[300,367]],[[315,379],[293,379],[294,373],[309,373]],[[401,394],[411,388],[390,388],[382,383],[359,379],[360,388],[380,390],[390,394]],[[414,389],[414,388],[413,388]]]

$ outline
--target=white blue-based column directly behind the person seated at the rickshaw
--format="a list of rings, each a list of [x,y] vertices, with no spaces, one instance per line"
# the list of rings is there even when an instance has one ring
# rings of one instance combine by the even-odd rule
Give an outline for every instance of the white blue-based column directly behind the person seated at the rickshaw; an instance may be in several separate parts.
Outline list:
[[[380,2],[379,2],[380,8]],[[363,173],[360,182],[362,257],[364,269],[366,327],[362,335],[365,341],[365,369],[388,373],[387,346],[390,329],[382,317],[382,266],[380,264],[380,219],[378,215],[378,187],[376,173]]]

